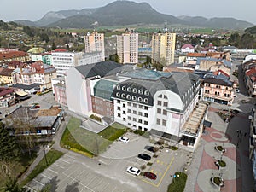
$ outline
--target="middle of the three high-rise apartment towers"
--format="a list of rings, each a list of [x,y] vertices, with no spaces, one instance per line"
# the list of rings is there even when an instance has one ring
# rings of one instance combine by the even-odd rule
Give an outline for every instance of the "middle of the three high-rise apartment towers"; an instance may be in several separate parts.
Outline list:
[[[117,55],[120,63],[138,62],[138,33],[126,32],[117,36]]]

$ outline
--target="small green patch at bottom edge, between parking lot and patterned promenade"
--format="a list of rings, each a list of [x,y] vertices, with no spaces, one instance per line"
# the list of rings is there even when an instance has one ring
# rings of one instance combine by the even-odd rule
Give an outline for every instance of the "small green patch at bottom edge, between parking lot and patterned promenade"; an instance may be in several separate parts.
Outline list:
[[[188,176],[184,172],[175,172],[175,175],[176,177],[172,178],[172,183],[168,186],[168,192],[183,192]]]

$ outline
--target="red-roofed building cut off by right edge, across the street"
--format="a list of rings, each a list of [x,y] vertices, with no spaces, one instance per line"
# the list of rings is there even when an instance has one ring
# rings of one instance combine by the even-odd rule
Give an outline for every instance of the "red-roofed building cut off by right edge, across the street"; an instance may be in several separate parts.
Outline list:
[[[248,69],[245,73],[245,84],[250,96],[256,96],[256,67]]]

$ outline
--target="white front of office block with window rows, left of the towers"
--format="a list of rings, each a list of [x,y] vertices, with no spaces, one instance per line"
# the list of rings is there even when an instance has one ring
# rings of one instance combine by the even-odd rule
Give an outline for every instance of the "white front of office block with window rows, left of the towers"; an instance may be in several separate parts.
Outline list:
[[[78,66],[78,60],[82,55],[82,52],[52,52],[52,65],[56,69],[57,76],[64,76],[69,68]]]

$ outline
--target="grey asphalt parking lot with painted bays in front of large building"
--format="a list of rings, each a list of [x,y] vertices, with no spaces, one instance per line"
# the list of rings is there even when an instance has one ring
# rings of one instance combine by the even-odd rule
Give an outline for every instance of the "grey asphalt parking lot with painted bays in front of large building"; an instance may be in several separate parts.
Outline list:
[[[115,141],[96,159],[73,152],[64,154],[35,177],[28,187],[42,189],[46,183],[51,183],[54,191],[166,191],[172,182],[170,176],[182,171],[189,152],[163,148],[154,156],[144,149],[146,145],[154,145],[149,143],[149,139],[130,132],[125,137],[129,137],[129,143]],[[137,154],[140,153],[149,154],[151,160],[139,159]],[[154,172],[157,179],[134,176],[126,172],[128,166],[137,167],[142,172]]]

